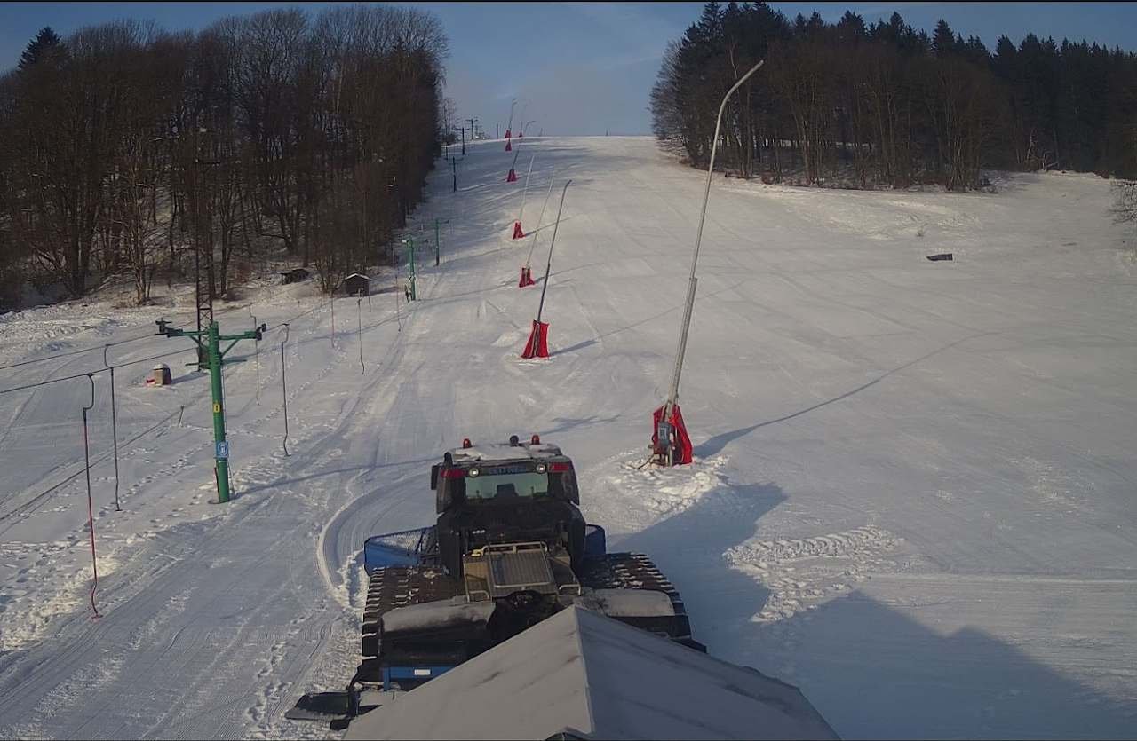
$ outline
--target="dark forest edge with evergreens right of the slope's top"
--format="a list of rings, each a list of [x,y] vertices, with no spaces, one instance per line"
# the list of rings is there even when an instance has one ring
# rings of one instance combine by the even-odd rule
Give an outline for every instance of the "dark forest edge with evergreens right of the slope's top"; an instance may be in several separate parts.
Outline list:
[[[719,103],[760,59],[719,143],[742,177],[963,190],[980,168],[1137,176],[1137,55],[1034,34],[1018,47],[1001,36],[991,53],[944,20],[929,36],[899,14],[790,22],[764,2],[709,2],[670,44],[650,97],[656,136],[706,167]]]

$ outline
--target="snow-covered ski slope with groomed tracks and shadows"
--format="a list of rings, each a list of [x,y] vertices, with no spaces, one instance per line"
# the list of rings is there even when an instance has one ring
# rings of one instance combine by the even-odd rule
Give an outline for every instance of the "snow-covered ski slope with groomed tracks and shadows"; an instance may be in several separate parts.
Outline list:
[[[553,357],[517,359],[540,284],[516,288],[512,155],[467,144],[460,191],[440,168],[416,215],[450,223],[409,311],[393,292],[340,299],[333,338],[310,284],[247,292],[258,322],[292,319],[291,455],[276,328],[226,370],[227,506],[209,503],[207,378],[188,340],[150,336],[163,314],[188,322],[186,301],[0,317],[0,365],[90,349],[2,369],[0,390],[102,368],[123,339],[138,338],[111,364],[185,348],[169,388],[143,385],[149,361],[116,372],[122,511],[94,376],[98,621],[88,382],[0,394],[0,736],[326,734],[283,713],[355,668],[364,539],[432,522],[429,466],[463,436],[533,432],[573,456],[586,515],[653,557],[712,653],[799,685],[839,734],[1132,735],[1137,267],[1104,181],[945,194],[716,178],[681,389],[697,461],[659,471],[637,466],[703,176],[646,138],[526,151],[526,230],[548,178],[573,178]],[[955,260],[924,259],[939,251]],[[219,319],[252,324],[240,303]]]

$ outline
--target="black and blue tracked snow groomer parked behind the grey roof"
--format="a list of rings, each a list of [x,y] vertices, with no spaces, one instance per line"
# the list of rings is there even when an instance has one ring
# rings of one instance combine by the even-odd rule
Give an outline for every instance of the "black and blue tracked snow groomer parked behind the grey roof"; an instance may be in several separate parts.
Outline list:
[[[556,446],[464,439],[431,467],[430,485],[435,525],[364,542],[363,660],[348,694],[413,690],[573,605],[706,651],[658,568],[608,552],[604,528],[584,522],[572,460]],[[350,716],[347,699],[308,694],[296,711]]]

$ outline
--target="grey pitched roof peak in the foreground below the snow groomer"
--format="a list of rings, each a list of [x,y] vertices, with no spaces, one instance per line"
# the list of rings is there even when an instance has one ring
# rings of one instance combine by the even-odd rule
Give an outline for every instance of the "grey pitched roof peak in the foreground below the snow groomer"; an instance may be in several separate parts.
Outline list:
[[[382,702],[345,734],[495,738],[838,736],[796,686],[579,606]]]

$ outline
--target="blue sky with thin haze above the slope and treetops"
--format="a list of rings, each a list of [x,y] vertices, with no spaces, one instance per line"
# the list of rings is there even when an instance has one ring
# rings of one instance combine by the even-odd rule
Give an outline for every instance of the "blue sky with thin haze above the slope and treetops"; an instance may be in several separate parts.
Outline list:
[[[537,119],[533,133],[648,133],[647,98],[667,41],[698,18],[702,2],[420,2],[442,19],[450,42],[447,94],[459,115],[476,116],[492,135],[505,128],[509,101]],[[122,17],[152,18],[169,30],[201,28],[226,15],[318,2],[7,2],[0,5],[0,68],[15,66],[35,32],[60,35]],[[827,20],[846,10],[866,22],[899,11],[929,32],[939,18],[989,47],[1003,33],[1015,42],[1038,36],[1134,50],[1134,2],[772,2],[789,17],[816,8]],[[521,114],[518,103],[517,114]]]

